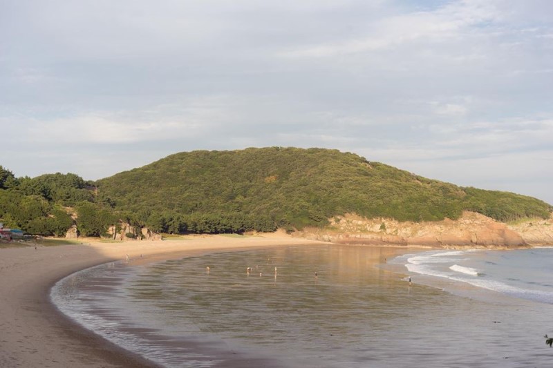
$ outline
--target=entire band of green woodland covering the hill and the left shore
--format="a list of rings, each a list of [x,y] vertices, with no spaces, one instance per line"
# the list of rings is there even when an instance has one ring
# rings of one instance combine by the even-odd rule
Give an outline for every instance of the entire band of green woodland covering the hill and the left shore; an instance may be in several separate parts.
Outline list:
[[[75,174],[16,178],[0,166],[0,218],[28,233],[101,236],[126,222],[164,233],[293,231],[344,213],[400,221],[507,222],[550,216],[532,197],[429,180],[353,153],[247,148],[170,155],[97,182]]]

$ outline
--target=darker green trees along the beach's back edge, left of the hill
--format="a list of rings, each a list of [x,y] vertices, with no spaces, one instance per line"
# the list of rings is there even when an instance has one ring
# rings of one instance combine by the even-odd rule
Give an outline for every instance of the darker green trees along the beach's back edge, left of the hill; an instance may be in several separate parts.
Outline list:
[[[95,195],[93,182],[75,174],[16,178],[0,166],[0,222],[33,235],[63,236],[77,226],[82,236],[107,236],[109,226],[123,223],[158,233],[243,233],[275,231],[268,217],[241,213],[180,215],[171,211],[124,211]]]

